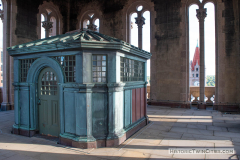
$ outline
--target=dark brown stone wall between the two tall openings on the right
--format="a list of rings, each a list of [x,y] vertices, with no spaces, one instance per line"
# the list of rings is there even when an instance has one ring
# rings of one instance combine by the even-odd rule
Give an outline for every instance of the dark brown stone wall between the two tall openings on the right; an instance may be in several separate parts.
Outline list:
[[[181,0],[155,0],[154,4],[157,45],[151,59],[151,100],[184,101]]]

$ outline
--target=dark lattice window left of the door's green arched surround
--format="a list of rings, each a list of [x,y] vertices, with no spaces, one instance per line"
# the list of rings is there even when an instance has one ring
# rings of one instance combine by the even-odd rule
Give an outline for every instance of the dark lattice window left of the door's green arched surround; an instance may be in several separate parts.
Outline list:
[[[21,59],[20,60],[20,81],[26,82],[28,70],[31,67],[32,63],[36,60],[36,58],[32,59]]]

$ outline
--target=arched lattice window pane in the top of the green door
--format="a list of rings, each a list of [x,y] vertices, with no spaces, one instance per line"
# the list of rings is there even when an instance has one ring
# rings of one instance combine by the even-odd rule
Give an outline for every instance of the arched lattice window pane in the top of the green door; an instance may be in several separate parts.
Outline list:
[[[43,74],[41,95],[57,95],[57,77],[53,72]]]

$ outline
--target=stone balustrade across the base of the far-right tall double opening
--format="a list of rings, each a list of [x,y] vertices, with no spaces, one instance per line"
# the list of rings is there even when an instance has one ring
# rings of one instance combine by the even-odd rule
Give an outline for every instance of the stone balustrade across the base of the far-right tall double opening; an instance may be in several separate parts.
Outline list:
[[[199,87],[190,87],[190,99],[192,104],[197,104],[199,100]],[[215,87],[205,87],[205,100],[207,105],[214,103]]]

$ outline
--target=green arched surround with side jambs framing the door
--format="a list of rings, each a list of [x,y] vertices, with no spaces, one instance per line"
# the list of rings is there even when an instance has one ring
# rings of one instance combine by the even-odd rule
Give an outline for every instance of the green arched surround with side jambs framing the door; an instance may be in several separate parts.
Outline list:
[[[32,122],[32,127],[38,129],[39,126],[39,113],[38,113],[38,95],[36,94],[38,91],[38,78],[40,72],[46,68],[50,67],[52,68],[59,79],[59,109],[60,109],[60,131],[61,133],[64,133],[64,109],[63,109],[63,86],[62,84],[65,82],[65,76],[62,71],[61,66],[59,63],[49,57],[42,57],[38,58],[34,61],[34,63],[31,65],[28,74],[27,74],[27,83],[29,84],[29,99],[30,99],[30,112],[31,116],[30,121]]]

